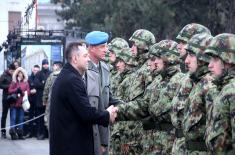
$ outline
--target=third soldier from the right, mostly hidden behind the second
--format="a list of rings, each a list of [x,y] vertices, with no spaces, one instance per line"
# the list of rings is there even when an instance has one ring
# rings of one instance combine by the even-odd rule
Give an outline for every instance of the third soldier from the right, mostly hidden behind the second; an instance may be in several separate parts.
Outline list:
[[[176,139],[173,145],[173,154],[174,152],[177,152],[179,154],[180,151],[183,151],[181,149],[185,148],[184,138],[182,137],[183,136],[182,119],[184,117],[184,105],[186,103],[185,100],[186,98],[188,98],[188,95],[192,89],[192,82],[185,66],[185,58],[187,56],[185,47],[187,45],[187,42],[194,35],[201,33],[206,33],[208,35],[211,34],[210,30],[205,26],[196,23],[191,23],[187,24],[176,37],[176,39],[179,42],[178,50],[180,52],[180,60],[181,60],[180,63],[181,72],[177,73],[178,75],[176,76],[183,76],[183,78],[178,81],[177,85],[180,86],[179,92],[177,92],[176,96],[172,100],[173,109],[171,113],[171,120],[172,124],[176,129],[175,130]]]

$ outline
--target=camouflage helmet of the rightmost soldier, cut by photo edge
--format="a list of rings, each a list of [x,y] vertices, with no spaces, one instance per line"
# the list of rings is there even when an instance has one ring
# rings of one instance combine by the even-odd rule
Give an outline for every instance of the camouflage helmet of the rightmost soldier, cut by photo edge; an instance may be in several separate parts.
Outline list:
[[[235,64],[235,35],[222,33],[215,36],[205,53],[218,56],[226,63]]]

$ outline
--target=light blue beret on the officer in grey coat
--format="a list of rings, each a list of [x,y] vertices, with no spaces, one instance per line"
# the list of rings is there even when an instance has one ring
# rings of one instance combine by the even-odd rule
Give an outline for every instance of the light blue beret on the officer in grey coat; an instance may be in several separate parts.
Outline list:
[[[105,32],[101,32],[101,31],[89,32],[85,37],[85,41],[89,45],[104,44],[108,41],[108,39],[109,39],[109,35]]]

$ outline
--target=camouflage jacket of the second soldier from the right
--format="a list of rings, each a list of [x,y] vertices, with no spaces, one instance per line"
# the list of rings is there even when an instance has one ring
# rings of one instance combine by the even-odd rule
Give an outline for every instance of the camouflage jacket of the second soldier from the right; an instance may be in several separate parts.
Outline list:
[[[207,72],[208,70],[205,73]],[[186,142],[192,140],[203,141],[206,128],[205,94],[212,85],[212,78],[205,73],[197,80],[192,79],[194,86],[185,105],[183,120],[183,132]]]

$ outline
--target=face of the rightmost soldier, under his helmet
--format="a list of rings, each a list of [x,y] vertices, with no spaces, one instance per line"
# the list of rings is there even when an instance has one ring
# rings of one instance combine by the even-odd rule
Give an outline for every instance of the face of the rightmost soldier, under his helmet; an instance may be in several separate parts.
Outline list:
[[[223,73],[224,63],[220,58],[212,57],[208,68],[214,77],[219,77]]]

